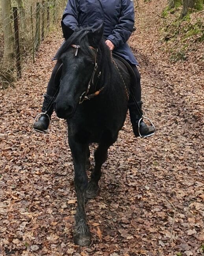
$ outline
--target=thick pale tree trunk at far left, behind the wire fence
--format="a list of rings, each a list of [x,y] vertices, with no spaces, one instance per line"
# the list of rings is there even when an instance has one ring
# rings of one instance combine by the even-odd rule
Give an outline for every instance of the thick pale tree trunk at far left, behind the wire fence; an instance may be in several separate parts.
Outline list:
[[[4,31],[3,66],[7,70],[13,69],[13,32],[11,27],[11,0],[2,0],[2,25]]]

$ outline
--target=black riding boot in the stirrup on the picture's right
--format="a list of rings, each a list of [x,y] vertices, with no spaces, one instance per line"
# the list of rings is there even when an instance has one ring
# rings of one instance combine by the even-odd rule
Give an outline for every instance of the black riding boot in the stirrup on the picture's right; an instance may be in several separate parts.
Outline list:
[[[134,102],[129,102],[130,121],[132,123],[133,132],[136,137],[139,137],[139,132],[142,136],[147,136],[154,133],[154,127],[145,124],[143,119],[139,124],[139,120],[142,118],[142,101],[137,102],[138,106]],[[138,127],[139,124],[139,127]]]

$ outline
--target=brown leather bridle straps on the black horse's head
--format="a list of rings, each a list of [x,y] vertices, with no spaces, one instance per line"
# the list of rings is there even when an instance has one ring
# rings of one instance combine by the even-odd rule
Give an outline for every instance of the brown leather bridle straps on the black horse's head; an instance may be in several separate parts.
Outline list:
[[[76,49],[75,56],[77,56],[78,50],[79,50],[79,48],[81,48],[81,46],[80,45],[71,45],[71,47]],[[95,79],[95,76],[96,76],[96,72],[98,70],[98,63],[97,63],[98,48],[94,48],[93,46],[89,46],[89,48],[96,51],[96,55],[95,55],[95,59],[94,59],[95,67],[94,67],[93,73],[91,75],[91,79],[89,80],[86,91],[84,91],[82,93],[82,95],[80,96],[80,98],[79,98],[79,104],[82,104],[84,102],[84,100],[91,100],[95,96],[99,95],[100,92],[104,89],[104,86],[103,86],[102,88],[100,88],[100,90],[96,91],[95,93],[88,94],[91,86],[94,85],[94,79]],[[98,79],[100,78],[100,75],[101,75],[101,72],[98,73]],[[96,82],[96,84],[97,84],[97,82]]]

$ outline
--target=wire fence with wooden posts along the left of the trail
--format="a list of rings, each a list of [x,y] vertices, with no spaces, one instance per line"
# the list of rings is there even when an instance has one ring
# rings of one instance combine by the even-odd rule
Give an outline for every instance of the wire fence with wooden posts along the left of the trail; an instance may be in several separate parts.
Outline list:
[[[19,2],[22,3],[21,6],[18,5]],[[41,42],[61,19],[67,0],[23,0],[18,1],[18,4],[13,0],[10,17],[6,18],[2,16],[0,6],[0,88],[10,83],[11,77],[22,76],[22,69],[28,58],[35,61]],[[12,32],[6,42],[4,28],[8,23],[11,24]],[[7,69],[7,63],[4,61],[5,47],[12,49],[13,63],[15,63],[12,72]],[[8,72],[9,76],[7,76]]]

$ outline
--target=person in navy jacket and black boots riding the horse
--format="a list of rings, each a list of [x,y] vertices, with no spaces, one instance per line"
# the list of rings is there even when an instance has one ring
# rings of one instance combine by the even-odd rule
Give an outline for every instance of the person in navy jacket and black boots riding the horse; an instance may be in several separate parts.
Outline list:
[[[61,25],[64,35],[66,30],[78,30],[79,27],[98,27],[102,23],[104,26],[104,39],[106,45],[113,53],[125,59],[132,67],[136,82],[131,86],[130,100],[128,103],[130,119],[135,136],[149,135],[154,132],[152,126],[145,124],[142,118],[141,83],[140,74],[137,69],[137,60],[126,43],[134,29],[134,2],[133,0],[69,0],[63,13]],[[57,72],[61,61],[57,61],[48,83],[42,112],[38,121],[34,124],[34,129],[45,131],[49,126],[54,106],[51,103],[53,96],[59,87],[61,74]],[[57,75],[56,75],[57,74]],[[57,82],[56,82],[57,81]],[[135,104],[135,101],[136,104]],[[49,116],[49,117],[48,117]]]

